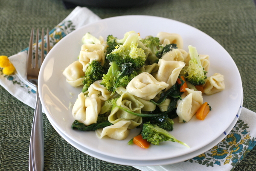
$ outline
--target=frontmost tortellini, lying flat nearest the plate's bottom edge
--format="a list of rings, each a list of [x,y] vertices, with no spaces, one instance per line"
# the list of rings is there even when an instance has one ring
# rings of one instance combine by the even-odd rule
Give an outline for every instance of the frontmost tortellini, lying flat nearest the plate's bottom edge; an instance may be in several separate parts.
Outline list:
[[[96,135],[102,139],[104,136],[108,136],[112,139],[122,140],[127,138],[130,133],[128,126],[131,124],[131,121],[121,120],[116,122],[114,125],[107,126],[105,128],[97,129]]]

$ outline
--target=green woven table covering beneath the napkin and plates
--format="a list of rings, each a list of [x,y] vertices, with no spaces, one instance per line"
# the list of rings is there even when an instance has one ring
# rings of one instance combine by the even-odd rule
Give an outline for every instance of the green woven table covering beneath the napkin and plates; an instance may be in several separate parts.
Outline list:
[[[253,0],[158,0],[129,8],[87,6],[101,18],[143,14],[166,17],[205,32],[235,61],[243,82],[243,106],[256,112],[256,7]],[[61,0],[0,0],[0,55],[11,56],[28,46],[30,31],[52,29],[73,9]],[[154,24],[154,23],[152,23]],[[28,170],[34,110],[0,87],[0,170]],[[90,157],[67,143],[44,115],[44,170],[137,171]],[[234,171],[256,170],[256,147]]]

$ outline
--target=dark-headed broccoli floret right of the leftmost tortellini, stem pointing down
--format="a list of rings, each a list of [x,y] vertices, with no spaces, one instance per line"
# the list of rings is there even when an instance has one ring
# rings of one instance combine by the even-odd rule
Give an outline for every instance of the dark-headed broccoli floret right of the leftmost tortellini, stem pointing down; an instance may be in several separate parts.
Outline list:
[[[86,71],[84,72],[84,80],[83,80],[83,89],[82,92],[85,92],[88,90],[88,87],[90,87],[91,84],[93,84],[94,81],[101,80],[102,75],[105,73],[105,70],[99,61],[92,61],[89,63]]]

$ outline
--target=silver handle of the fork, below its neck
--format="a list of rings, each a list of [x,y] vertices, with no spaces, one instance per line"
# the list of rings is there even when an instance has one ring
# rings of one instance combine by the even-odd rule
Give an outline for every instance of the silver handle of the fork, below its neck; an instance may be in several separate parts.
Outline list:
[[[29,171],[44,170],[44,132],[42,104],[36,92],[35,113],[29,144]]]

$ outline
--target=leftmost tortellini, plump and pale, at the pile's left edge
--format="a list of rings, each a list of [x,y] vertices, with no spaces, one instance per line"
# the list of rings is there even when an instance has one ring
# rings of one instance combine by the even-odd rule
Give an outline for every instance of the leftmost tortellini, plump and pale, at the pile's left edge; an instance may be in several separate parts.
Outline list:
[[[75,61],[70,64],[62,74],[66,77],[66,81],[72,87],[78,87],[83,84],[84,80],[84,72],[83,72],[83,65],[79,61]]]

